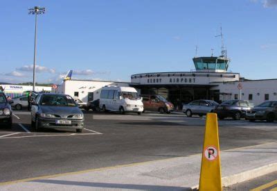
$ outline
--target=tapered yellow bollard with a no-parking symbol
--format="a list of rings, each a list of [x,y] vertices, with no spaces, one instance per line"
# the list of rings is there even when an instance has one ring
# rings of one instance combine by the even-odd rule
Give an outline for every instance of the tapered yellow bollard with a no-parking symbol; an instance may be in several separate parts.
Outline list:
[[[217,115],[208,113],[202,152],[199,191],[222,190]]]

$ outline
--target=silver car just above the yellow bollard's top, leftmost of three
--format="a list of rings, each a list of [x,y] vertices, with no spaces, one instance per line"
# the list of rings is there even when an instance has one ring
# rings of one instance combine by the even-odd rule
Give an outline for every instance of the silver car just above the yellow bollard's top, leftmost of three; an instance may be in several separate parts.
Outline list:
[[[183,112],[187,117],[195,114],[201,117],[206,115],[206,113],[213,113],[215,106],[218,106],[218,103],[215,101],[200,99],[183,105]]]

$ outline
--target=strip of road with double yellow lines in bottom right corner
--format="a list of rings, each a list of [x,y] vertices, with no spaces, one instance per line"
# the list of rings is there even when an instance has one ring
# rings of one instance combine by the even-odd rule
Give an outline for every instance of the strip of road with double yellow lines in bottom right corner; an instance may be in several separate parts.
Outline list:
[[[253,178],[250,181],[238,183],[228,188],[224,188],[224,191],[236,190],[277,190],[277,172],[260,176],[259,178]]]

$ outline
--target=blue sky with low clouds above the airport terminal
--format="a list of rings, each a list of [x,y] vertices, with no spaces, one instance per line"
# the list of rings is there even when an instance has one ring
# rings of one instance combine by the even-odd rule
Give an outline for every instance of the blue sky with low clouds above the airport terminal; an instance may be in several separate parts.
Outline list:
[[[0,82],[33,81],[35,16],[37,82],[73,78],[130,81],[132,74],[189,72],[192,58],[220,56],[249,79],[277,78],[277,0],[0,0]]]

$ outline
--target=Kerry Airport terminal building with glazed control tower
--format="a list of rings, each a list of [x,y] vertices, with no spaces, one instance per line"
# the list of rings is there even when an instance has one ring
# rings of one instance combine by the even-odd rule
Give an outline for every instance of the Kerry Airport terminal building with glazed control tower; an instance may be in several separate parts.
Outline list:
[[[277,100],[277,79],[246,80],[239,73],[228,72],[226,56],[195,57],[190,72],[154,72],[133,74],[131,82],[64,80],[55,92],[71,95],[84,102],[100,97],[105,85],[131,86],[140,94],[159,94],[178,109],[195,99],[217,102],[229,99],[249,100],[255,105]]]

